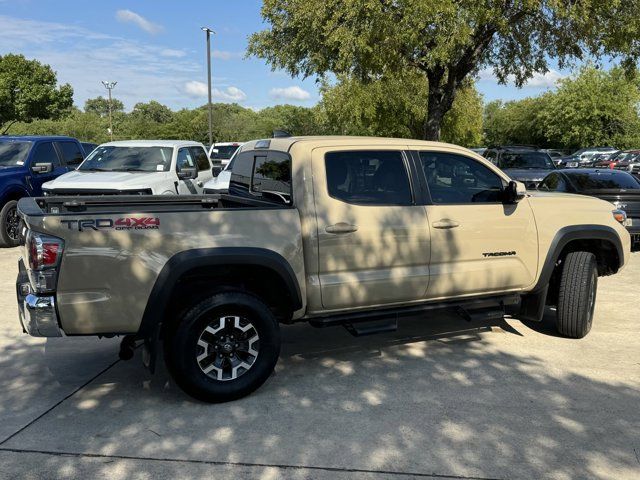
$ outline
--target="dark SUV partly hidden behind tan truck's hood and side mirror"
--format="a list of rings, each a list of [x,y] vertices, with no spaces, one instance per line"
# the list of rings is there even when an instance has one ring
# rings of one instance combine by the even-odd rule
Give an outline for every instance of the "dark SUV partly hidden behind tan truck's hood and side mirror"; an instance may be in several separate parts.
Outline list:
[[[511,178],[533,190],[550,171],[556,169],[547,152],[525,145],[490,147],[484,156]]]

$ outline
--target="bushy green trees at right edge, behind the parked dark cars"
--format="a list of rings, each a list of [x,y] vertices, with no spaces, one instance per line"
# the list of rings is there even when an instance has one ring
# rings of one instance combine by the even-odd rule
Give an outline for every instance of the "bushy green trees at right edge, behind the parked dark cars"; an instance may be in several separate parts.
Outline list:
[[[640,88],[622,68],[586,66],[536,98],[485,107],[487,144],[535,144],[577,149],[640,146]]]

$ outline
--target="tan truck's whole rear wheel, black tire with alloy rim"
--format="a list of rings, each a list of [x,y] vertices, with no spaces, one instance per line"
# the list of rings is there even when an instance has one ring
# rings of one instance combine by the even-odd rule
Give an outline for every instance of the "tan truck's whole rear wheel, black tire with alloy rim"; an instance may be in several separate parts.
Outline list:
[[[203,402],[227,402],[269,378],[280,355],[280,327],[260,299],[229,291],[187,310],[164,346],[167,369],[182,390]]]

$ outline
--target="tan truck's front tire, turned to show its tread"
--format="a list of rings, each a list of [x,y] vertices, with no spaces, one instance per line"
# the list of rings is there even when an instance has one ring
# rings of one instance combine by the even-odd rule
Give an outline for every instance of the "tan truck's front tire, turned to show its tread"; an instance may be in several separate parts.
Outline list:
[[[570,338],[582,338],[593,323],[598,289],[598,264],[590,252],[571,252],[565,260],[558,290],[556,328]]]

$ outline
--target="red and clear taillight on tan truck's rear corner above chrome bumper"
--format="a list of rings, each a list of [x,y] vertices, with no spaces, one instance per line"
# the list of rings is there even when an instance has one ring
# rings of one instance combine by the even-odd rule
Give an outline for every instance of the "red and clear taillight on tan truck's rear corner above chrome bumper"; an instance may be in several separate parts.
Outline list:
[[[64,241],[34,231],[27,233],[29,279],[37,293],[53,292],[58,280],[58,265],[64,251]]]

